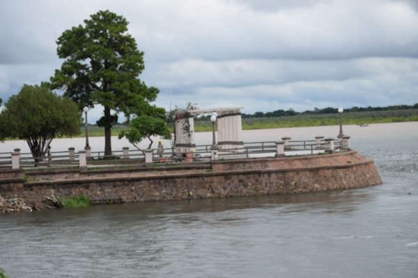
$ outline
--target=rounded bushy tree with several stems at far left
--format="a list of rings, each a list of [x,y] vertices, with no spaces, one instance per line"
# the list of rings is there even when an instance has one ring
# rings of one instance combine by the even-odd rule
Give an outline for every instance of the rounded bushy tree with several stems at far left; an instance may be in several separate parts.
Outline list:
[[[0,113],[1,135],[26,140],[36,162],[45,157],[55,137],[80,133],[82,115],[74,101],[48,88],[23,85]]]

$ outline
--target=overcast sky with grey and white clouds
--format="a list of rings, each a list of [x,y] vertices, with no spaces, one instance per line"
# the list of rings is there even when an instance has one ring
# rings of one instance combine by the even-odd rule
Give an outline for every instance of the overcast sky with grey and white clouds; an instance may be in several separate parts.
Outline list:
[[[1,0],[3,102],[48,81],[62,63],[56,39],[106,9],[130,22],[157,106],[418,103],[418,0]]]

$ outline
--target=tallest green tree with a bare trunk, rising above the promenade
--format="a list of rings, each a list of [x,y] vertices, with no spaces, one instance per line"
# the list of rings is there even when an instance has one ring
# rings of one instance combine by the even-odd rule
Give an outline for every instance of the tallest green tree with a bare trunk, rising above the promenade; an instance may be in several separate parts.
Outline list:
[[[99,11],[57,40],[58,56],[65,61],[51,78],[52,89],[65,90],[80,108],[103,106],[98,125],[104,127],[105,155],[111,155],[111,126],[118,113],[128,119],[132,113],[147,114],[158,94],[138,77],[144,70],[144,52],[126,33],[127,24],[120,15]]]

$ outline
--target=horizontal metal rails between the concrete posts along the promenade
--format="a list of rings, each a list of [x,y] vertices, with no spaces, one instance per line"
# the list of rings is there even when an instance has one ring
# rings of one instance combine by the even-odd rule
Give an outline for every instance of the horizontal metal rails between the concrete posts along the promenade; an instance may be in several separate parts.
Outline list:
[[[196,145],[193,148],[193,161],[210,161],[212,145]],[[219,147],[219,146],[218,146]],[[325,152],[325,142],[316,140],[290,140],[284,145],[284,153],[286,156],[318,154]],[[160,158],[164,162],[184,163],[186,156],[178,154],[173,148],[165,148],[164,153],[157,154],[157,149],[153,150],[153,162],[159,163]],[[344,151],[340,140],[334,140],[334,151]],[[277,145],[274,141],[264,142],[245,142],[241,147],[232,149],[219,149],[219,159],[233,158],[251,158],[251,157],[271,157],[277,153]],[[12,165],[12,153],[0,153],[0,167],[10,168]],[[38,162],[37,162],[38,161]],[[89,166],[121,166],[121,165],[141,165],[145,162],[144,152],[138,149],[129,150],[128,154],[123,150],[112,152],[111,156],[105,156],[104,152],[91,152],[91,156],[87,158]],[[79,154],[70,152],[51,152],[50,156],[41,158],[33,158],[31,153],[20,153],[20,167],[78,167]]]

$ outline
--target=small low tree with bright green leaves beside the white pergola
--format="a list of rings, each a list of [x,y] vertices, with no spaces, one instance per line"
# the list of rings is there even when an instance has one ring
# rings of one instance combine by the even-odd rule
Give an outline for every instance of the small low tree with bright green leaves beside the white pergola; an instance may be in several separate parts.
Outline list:
[[[170,139],[171,131],[164,120],[148,115],[141,115],[134,118],[130,121],[128,129],[119,133],[119,139],[123,137],[127,138],[127,140],[139,150],[141,149],[138,147],[138,144],[145,138],[150,140],[148,149],[151,148],[153,145],[151,136],[162,136],[164,139]]]

